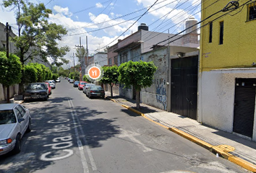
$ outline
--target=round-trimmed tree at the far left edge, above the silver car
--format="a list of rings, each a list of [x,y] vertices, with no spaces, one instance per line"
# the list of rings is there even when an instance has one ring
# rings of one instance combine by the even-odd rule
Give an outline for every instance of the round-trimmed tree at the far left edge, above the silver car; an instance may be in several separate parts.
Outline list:
[[[22,65],[20,58],[14,54],[0,52],[0,83],[7,87],[7,102],[9,102],[9,86],[20,83],[22,76]]]

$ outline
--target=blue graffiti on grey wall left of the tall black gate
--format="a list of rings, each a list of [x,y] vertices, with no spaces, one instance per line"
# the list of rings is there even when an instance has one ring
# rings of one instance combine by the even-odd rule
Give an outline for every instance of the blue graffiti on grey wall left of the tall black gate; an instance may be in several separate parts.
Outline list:
[[[164,110],[166,110],[166,80],[156,79],[155,86],[156,101],[161,103],[163,105]]]

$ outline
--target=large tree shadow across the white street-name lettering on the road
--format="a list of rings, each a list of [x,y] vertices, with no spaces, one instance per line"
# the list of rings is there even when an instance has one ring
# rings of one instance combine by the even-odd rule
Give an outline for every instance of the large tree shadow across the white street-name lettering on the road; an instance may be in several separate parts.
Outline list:
[[[118,125],[107,118],[97,117],[106,112],[101,112],[88,107],[67,106],[68,97],[57,97],[49,99],[48,102],[30,110],[32,116],[32,131],[25,134],[22,138],[22,151],[20,154],[7,154],[0,156],[0,172],[36,172],[46,169],[56,164],[56,157],[64,156],[64,149],[74,152],[72,156],[76,157],[77,130],[80,141],[83,146],[90,148],[101,147],[101,141],[106,141],[119,133]],[[66,102],[62,104],[62,102]],[[29,105],[35,107],[38,102],[30,102]],[[26,104],[25,104],[26,105]],[[29,106],[26,106],[29,108]],[[65,139],[67,141],[61,140]],[[62,143],[62,144],[58,144]],[[67,147],[66,147],[67,146]],[[55,147],[55,148],[54,148]],[[43,154],[46,159],[42,160]]]

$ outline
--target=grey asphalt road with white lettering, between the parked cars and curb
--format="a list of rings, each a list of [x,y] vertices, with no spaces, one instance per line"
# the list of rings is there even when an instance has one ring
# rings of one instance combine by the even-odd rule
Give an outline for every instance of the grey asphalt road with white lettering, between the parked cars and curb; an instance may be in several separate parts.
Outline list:
[[[48,101],[25,102],[30,133],[0,172],[247,172],[108,99],[88,99],[67,80]]]

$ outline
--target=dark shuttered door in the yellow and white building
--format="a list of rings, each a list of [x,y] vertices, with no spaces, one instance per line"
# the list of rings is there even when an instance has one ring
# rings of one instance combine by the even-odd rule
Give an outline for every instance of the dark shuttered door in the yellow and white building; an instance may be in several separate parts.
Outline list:
[[[252,138],[256,79],[236,79],[233,131]]]

